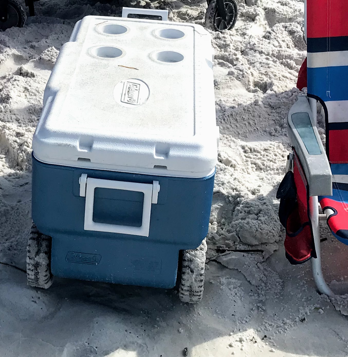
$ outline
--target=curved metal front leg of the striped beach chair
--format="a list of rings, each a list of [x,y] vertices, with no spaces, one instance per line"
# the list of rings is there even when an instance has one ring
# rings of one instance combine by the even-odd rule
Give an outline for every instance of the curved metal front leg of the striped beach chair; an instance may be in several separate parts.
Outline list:
[[[314,246],[315,251],[317,252],[317,258],[312,258],[312,271],[315,284],[319,292],[328,296],[334,296],[335,294],[328,287],[325,282],[323,272],[322,272],[322,263],[320,257],[320,232],[319,232],[319,207],[318,207],[318,197],[313,196],[309,197],[309,212],[310,220],[313,227],[313,236],[314,236]]]

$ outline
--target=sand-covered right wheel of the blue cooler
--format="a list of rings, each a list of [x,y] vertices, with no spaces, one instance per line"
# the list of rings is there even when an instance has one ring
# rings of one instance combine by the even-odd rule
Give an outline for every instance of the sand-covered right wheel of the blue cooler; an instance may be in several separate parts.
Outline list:
[[[182,302],[195,303],[202,300],[206,252],[205,239],[198,248],[182,252],[179,286],[179,298]]]

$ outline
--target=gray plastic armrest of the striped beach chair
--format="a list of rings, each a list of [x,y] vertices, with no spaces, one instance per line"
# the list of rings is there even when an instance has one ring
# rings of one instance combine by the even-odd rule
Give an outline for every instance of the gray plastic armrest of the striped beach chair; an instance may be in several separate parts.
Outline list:
[[[289,111],[288,132],[308,181],[309,196],[332,195],[330,164],[304,95],[298,96]]]

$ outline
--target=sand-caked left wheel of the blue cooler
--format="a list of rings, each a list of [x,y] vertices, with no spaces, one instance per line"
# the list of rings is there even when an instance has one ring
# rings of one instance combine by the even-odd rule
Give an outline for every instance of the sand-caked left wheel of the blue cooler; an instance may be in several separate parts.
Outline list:
[[[30,286],[47,289],[52,284],[51,243],[52,238],[40,233],[33,222],[26,251],[26,277]]]

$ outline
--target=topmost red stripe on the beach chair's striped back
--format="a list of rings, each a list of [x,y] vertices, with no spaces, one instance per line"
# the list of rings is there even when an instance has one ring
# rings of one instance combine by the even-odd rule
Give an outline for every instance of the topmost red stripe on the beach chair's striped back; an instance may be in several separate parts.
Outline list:
[[[348,36],[347,0],[307,0],[307,37]]]

